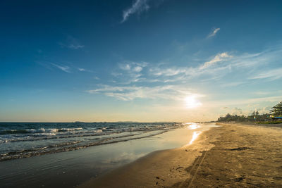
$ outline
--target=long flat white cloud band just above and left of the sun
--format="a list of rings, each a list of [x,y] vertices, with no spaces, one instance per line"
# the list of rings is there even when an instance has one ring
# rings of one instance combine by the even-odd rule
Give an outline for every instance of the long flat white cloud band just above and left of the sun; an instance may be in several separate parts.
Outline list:
[[[137,86],[118,86],[100,85],[98,89],[86,91],[90,94],[105,94],[123,101],[132,101],[133,99],[172,99],[183,100],[187,96],[203,96],[194,94],[190,89],[175,85],[156,86],[156,87],[137,87]]]

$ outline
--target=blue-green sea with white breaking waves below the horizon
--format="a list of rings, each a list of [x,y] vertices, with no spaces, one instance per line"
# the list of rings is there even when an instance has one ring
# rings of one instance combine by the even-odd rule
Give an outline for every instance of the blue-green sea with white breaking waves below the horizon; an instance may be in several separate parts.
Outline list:
[[[0,161],[125,142],[184,123],[0,123]]]

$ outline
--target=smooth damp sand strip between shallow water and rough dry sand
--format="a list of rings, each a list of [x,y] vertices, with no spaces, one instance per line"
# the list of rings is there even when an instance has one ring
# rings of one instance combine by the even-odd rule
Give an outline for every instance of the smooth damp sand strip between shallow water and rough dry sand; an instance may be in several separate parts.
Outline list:
[[[202,156],[203,151],[214,147],[211,142],[216,141],[219,134],[215,135],[211,130],[216,128],[202,132],[192,144],[154,151],[78,187],[170,187],[183,182],[188,175],[186,169]]]

